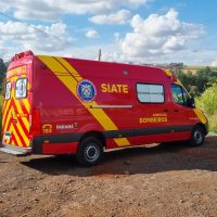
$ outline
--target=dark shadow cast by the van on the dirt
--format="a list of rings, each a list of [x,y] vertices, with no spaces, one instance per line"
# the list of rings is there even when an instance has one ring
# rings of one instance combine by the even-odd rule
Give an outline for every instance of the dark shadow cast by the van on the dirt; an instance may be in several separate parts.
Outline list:
[[[217,137],[206,138],[201,148],[173,143],[117,150],[105,153],[100,165],[89,168],[80,167],[74,156],[31,156],[22,164],[53,176],[135,175],[192,169],[217,171]]]

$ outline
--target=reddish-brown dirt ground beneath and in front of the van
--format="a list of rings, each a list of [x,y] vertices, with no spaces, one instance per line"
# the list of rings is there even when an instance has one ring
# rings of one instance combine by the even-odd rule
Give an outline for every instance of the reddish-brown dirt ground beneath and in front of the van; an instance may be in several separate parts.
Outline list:
[[[105,154],[94,167],[72,156],[0,154],[0,216],[216,217],[217,137]]]

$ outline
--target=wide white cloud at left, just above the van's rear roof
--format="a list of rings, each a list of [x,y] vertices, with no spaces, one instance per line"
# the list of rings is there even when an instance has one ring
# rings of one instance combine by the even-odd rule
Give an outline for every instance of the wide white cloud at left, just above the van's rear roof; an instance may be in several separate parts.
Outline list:
[[[34,50],[36,52],[53,53],[64,51],[72,44],[73,38],[66,31],[63,23],[52,24],[51,26],[28,26],[17,22],[0,23],[0,44],[8,47],[4,58],[13,55],[23,50]]]

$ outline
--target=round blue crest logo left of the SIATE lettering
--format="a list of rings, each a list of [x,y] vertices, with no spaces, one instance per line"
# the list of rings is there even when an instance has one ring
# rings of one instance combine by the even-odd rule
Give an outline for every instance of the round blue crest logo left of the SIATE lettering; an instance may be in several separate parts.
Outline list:
[[[81,80],[77,85],[77,94],[84,102],[92,102],[97,94],[97,89],[90,80]]]

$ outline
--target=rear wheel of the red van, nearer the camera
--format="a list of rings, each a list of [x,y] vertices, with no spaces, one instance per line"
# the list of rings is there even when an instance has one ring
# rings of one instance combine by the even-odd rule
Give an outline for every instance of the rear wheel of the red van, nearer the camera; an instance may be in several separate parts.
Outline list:
[[[102,141],[95,137],[81,140],[77,153],[77,162],[82,166],[92,166],[100,163],[103,156]]]

